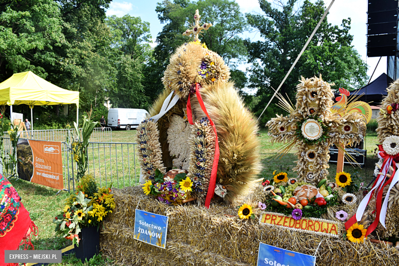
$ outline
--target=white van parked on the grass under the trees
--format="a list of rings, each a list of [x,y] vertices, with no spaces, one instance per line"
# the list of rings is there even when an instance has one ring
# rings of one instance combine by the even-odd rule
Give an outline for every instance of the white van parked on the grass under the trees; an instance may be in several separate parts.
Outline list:
[[[108,126],[111,128],[136,128],[146,118],[144,109],[110,108],[108,110]]]

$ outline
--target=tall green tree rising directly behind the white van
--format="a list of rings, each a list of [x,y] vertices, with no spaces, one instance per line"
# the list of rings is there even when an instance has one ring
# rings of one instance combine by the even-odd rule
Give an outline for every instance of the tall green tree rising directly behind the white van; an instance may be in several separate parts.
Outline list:
[[[109,91],[109,100],[114,107],[147,108],[144,95],[143,68],[149,63],[152,48],[149,23],[140,17],[125,15],[110,16],[106,24],[112,34],[111,46],[117,55],[116,86]]]

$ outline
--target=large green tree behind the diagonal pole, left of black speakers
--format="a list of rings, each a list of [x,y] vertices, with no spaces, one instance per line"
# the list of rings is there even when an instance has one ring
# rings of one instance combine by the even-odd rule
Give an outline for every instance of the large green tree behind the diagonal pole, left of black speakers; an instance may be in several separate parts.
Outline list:
[[[250,87],[257,88],[257,104],[253,110],[260,115],[274,91],[291,68],[306,40],[313,32],[324,13],[324,3],[304,1],[295,10],[297,0],[286,3],[275,1],[274,6],[259,0],[265,15],[246,14],[249,24],[259,31],[264,41],[246,40],[249,50]],[[301,76],[321,74],[328,82],[335,82],[333,89],[345,87],[353,90],[365,85],[367,65],[351,46],[353,36],[349,34],[350,18],[343,19],[341,27],[328,23],[324,18],[319,30],[280,89],[295,103],[296,84]],[[260,99],[260,100],[259,100]],[[273,103],[276,103],[277,99]],[[262,122],[282,113],[274,104],[262,117]]]

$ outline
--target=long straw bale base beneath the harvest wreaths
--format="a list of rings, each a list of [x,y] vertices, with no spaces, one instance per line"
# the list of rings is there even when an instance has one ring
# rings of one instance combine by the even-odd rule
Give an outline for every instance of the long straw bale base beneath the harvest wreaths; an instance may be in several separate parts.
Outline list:
[[[385,244],[355,244],[241,220],[233,205],[168,206],[140,187],[113,190],[114,213],[103,223],[103,254],[117,265],[256,265],[259,242],[314,255],[316,265],[398,265],[399,251]],[[166,249],[133,238],[135,209],[169,216]]]

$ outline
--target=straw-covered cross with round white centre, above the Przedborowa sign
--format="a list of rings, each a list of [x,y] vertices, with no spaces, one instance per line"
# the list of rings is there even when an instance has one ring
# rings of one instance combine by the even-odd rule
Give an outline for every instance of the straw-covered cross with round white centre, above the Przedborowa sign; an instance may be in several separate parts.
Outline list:
[[[334,94],[330,84],[320,78],[304,79],[297,85],[296,105],[290,115],[272,118],[266,126],[272,142],[289,142],[281,153],[297,146],[298,179],[317,185],[328,174],[328,148],[363,140],[366,123],[356,113],[339,116],[331,113]],[[285,105],[286,106],[286,105]]]

